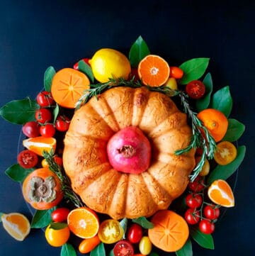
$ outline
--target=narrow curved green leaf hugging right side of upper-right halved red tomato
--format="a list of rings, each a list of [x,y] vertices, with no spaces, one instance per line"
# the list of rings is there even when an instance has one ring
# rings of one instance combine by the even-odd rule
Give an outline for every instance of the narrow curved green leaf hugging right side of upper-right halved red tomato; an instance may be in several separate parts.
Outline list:
[[[203,84],[205,84],[205,96],[203,96],[202,99],[196,100],[196,108],[198,112],[208,108],[210,104],[210,96],[212,94],[212,76],[210,73],[205,75]]]

